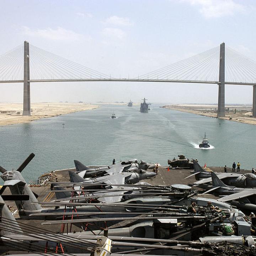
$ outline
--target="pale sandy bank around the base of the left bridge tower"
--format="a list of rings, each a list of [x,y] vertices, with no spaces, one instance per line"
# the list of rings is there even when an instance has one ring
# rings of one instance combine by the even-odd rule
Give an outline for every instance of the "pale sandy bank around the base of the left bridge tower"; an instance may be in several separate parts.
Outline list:
[[[91,110],[97,107],[98,105],[84,103],[31,103],[31,116],[22,116],[23,103],[0,103],[0,111],[7,111],[7,113],[0,113],[0,126],[28,123],[41,118]],[[17,112],[20,112],[20,114]]]

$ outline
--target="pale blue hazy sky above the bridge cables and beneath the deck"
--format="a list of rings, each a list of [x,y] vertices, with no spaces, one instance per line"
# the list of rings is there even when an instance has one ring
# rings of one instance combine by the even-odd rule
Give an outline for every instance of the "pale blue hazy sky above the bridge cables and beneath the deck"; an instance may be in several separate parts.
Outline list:
[[[0,55],[30,42],[116,78],[137,77],[225,42],[256,60],[254,0],[0,0]],[[0,66],[0,70],[1,70]],[[217,103],[212,84],[31,83],[32,102]],[[22,102],[23,84],[0,84]],[[252,103],[252,87],[226,85],[226,103]]]

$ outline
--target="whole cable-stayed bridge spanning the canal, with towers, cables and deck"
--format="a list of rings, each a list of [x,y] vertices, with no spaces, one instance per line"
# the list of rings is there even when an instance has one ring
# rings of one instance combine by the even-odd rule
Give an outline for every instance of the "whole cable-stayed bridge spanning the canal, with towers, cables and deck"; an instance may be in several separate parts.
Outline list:
[[[97,70],[72,62],[27,41],[0,55],[0,83],[23,83],[23,115],[30,115],[31,82],[122,81],[183,82],[217,84],[217,117],[225,116],[225,84],[253,86],[253,116],[256,117],[256,62],[225,47],[207,50],[185,60],[139,75],[113,78]]]

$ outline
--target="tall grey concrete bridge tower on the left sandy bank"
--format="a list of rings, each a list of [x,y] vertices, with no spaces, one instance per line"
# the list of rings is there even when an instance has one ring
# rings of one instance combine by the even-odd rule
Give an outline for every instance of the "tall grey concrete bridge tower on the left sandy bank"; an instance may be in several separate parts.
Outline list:
[[[24,82],[23,82],[23,116],[30,116],[30,65],[29,43],[24,41]]]

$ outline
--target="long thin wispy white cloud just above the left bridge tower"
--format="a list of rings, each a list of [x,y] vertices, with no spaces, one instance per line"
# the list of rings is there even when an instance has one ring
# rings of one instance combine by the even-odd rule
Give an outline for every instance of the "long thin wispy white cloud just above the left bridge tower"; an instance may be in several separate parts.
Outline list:
[[[82,39],[84,36],[82,34],[78,34],[72,30],[66,30],[62,27],[53,28],[45,28],[45,29],[31,29],[29,27],[23,26],[22,33],[27,36],[34,36],[40,38],[46,38],[50,40],[66,40],[66,41],[74,41]]]

